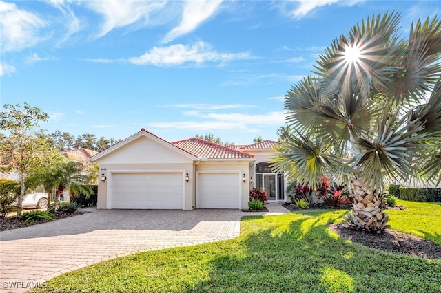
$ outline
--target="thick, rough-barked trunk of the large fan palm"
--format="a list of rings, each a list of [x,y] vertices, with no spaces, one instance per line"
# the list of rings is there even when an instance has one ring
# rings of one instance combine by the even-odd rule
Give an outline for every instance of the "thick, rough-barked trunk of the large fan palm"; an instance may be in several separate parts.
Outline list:
[[[382,212],[384,198],[372,187],[367,187],[366,182],[354,177],[352,210],[343,217],[343,226],[351,230],[363,230],[381,233],[389,228],[389,216]]]

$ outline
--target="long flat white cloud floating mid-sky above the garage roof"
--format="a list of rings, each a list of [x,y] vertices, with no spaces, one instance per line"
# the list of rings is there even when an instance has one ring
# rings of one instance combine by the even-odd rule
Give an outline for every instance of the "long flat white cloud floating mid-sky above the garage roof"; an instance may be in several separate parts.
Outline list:
[[[136,65],[172,66],[184,63],[201,64],[205,62],[227,62],[239,59],[252,58],[249,52],[220,53],[212,49],[212,46],[200,41],[194,45],[170,45],[170,47],[153,47],[149,52],[128,59],[128,62]]]

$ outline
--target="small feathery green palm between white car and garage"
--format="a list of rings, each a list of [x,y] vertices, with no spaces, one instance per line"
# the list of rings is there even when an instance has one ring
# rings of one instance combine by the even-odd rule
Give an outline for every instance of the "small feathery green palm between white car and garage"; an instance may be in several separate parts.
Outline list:
[[[64,160],[60,164],[34,173],[30,176],[32,186],[43,186],[49,194],[55,190],[54,206],[58,204],[58,198],[64,196],[66,191],[86,196],[93,193],[92,187],[88,185],[94,172],[84,166],[81,162]]]

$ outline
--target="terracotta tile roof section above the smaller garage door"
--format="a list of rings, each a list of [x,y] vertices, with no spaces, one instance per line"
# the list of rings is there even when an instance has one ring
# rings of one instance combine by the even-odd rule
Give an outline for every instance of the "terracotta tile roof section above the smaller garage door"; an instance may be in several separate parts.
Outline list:
[[[196,155],[198,158],[208,159],[248,159],[254,158],[254,155],[236,151],[227,146],[221,146],[200,138],[190,138],[188,140],[179,140],[178,142],[172,142],[174,146],[177,146],[188,153]]]

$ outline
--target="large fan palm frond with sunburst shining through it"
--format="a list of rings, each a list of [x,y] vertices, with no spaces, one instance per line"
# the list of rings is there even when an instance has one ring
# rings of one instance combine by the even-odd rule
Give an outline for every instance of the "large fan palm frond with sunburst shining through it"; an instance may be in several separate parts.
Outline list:
[[[399,21],[398,12],[368,17],[361,25],[354,25],[348,36],[333,41],[314,66],[330,92],[355,85],[362,96],[371,96],[372,91],[386,87],[401,47],[396,36]],[[348,50],[358,51],[356,61],[348,61]]]

